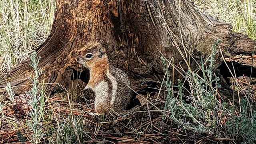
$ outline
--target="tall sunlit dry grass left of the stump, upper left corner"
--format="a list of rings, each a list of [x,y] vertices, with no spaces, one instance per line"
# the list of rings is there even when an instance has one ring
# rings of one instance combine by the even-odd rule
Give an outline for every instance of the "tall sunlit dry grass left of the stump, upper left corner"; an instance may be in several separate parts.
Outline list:
[[[54,0],[0,1],[0,71],[17,66],[42,44],[54,20]]]

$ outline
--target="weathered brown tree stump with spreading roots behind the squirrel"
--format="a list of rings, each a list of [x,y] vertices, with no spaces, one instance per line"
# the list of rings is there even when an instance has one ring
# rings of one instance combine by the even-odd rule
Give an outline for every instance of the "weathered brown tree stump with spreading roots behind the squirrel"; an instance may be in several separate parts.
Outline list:
[[[189,0],[56,0],[56,6],[51,33],[36,48],[41,56],[39,67],[44,69],[41,81],[46,94],[63,90],[58,84],[68,90],[76,88],[72,91],[84,88],[88,72],[80,68],[76,58],[99,44],[106,49],[110,62],[128,74],[136,91],[142,89],[144,80],[162,81],[161,53],[168,59],[175,56],[176,64],[181,62],[186,69],[177,48],[172,46],[177,42],[182,47],[178,40],[183,40],[195,58],[209,56],[218,38],[225,55],[253,51],[254,42],[248,36],[234,33],[229,24],[202,14]],[[166,25],[176,37],[170,38]],[[29,63],[30,59],[8,72],[1,87],[10,81],[17,86],[16,94],[28,90],[27,76],[34,74]],[[216,58],[215,65],[221,63],[222,59]],[[174,77],[180,76],[175,73]]]

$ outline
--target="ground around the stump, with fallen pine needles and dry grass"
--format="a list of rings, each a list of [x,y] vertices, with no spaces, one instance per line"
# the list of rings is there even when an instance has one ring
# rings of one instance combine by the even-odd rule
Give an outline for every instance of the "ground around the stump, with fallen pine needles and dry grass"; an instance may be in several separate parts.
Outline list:
[[[256,20],[255,0],[249,0],[247,3],[239,1],[241,2],[240,7],[231,1],[228,5],[224,5],[227,2],[226,0],[219,0],[218,2],[210,0],[192,1],[195,7],[201,11],[206,11],[214,18],[232,24],[235,32],[241,32],[248,34],[251,38],[256,38],[256,34],[250,33],[248,30],[245,20],[250,20],[252,23],[256,22],[254,21]],[[20,21],[24,20],[24,22],[20,22],[20,27],[23,27],[27,32],[13,32],[13,35],[6,35],[4,33],[6,29],[0,26],[0,36],[2,38],[0,48],[4,48],[4,50],[1,49],[2,76],[5,75],[6,71],[28,58],[28,54],[33,47],[46,40],[54,20],[54,5],[52,0],[31,2],[27,10],[28,15],[31,16],[30,19],[20,16]],[[23,5],[20,4],[19,6],[22,7]],[[15,17],[8,17],[12,15],[12,11],[8,11],[4,7],[11,7],[10,1],[6,0],[0,6],[0,11],[6,10],[6,15],[2,14],[2,17],[0,17],[5,20],[3,24],[6,24],[6,26],[4,28],[10,28],[9,31],[12,31],[13,28],[18,28],[15,25],[16,20]],[[252,8],[252,14],[250,13],[250,7]],[[20,9],[22,10],[22,8]],[[47,14],[38,12],[42,9]],[[36,11],[34,15],[32,10]],[[246,18],[242,13],[246,13]],[[39,18],[42,19],[38,20]],[[29,24],[25,21],[28,21]],[[256,28],[256,26],[252,27]],[[15,45],[17,43],[19,45]],[[12,47],[12,45],[16,47]],[[16,97],[20,100],[18,108],[13,107],[14,102],[10,98],[12,94],[6,93],[0,96],[0,143],[204,144],[241,143],[244,140],[253,143],[256,141],[256,111],[252,108],[256,100],[256,78],[253,78],[252,75],[256,72],[256,61],[253,60],[255,58],[256,55],[239,55],[232,59],[226,58],[228,65],[234,66],[240,71],[246,70],[246,72],[240,72],[239,77],[226,76],[230,80],[230,88],[241,93],[245,92],[249,97],[247,100],[252,104],[248,108],[248,105],[246,105],[247,107],[242,106],[243,101],[241,101],[240,112],[231,109],[224,111],[222,108],[225,106],[219,106],[217,102],[214,102],[216,112],[204,112],[206,109],[201,106],[202,104],[198,104],[200,106],[193,109],[184,101],[178,100],[178,96],[177,99],[172,99],[173,103],[170,102],[170,105],[177,107],[169,107],[170,109],[168,109],[166,108],[169,106],[166,104],[168,92],[166,90],[160,90],[159,92],[158,90],[155,93],[136,96],[134,103],[140,105],[140,107],[125,116],[118,116],[117,114],[91,116],[88,114],[94,110],[94,97],[91,93],[89,95],[87,95],[87,92],[79,94],[76,101],[73,101],[72,96],[69,95],[71,92],[67,91],[55,94],[50,98],[40,97],[37,101],[38,106],[35,107],[29,106],[30,98],[27,96],[18,96]],[[231,61],[234,63],[231,63]],[[247,73],[246,76],[243,73]],[[160,87],[156,87],[156,89],[160,89]],[[176,90],[173,93],[178,94],[179,91]],[[175,94],[174,96],[176,96]],[[184,95],[188,94],[185,93]],[[227,103],[228,106],[232,107],[232,103]],[[18,109],[21,107],[22,112],[19,112]],[[173,108],[173,111],[171,108]],[[30,109],[33,109],[34,113],[28,114],[31,111]],[[177,112],[177,114],[174,114],[174,112]],[[222,112],[226,113],[222,114]],[[205,120],[206,118],[209,118],[209,120]]]

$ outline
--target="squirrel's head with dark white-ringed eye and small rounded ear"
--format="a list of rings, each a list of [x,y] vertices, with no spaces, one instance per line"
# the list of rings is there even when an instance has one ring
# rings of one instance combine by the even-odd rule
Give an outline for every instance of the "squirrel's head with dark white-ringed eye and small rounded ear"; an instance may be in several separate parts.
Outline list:
[[[108,62],[108,56],[103,47],[92,48],[87,50],[85,55],[78,56],[77,61],[90,69],[98,64]]]

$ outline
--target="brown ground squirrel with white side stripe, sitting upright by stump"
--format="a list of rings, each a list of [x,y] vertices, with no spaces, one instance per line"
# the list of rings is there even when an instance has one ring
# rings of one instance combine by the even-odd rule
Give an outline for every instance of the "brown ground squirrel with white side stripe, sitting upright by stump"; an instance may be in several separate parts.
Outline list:
[[[128,76],[109,61],[101,46],[86,50],[77,61],[90,71],[90,80],[85,87],[95,93],[96,115],[104,112],[122,112],[127,109],[132,98]]]

